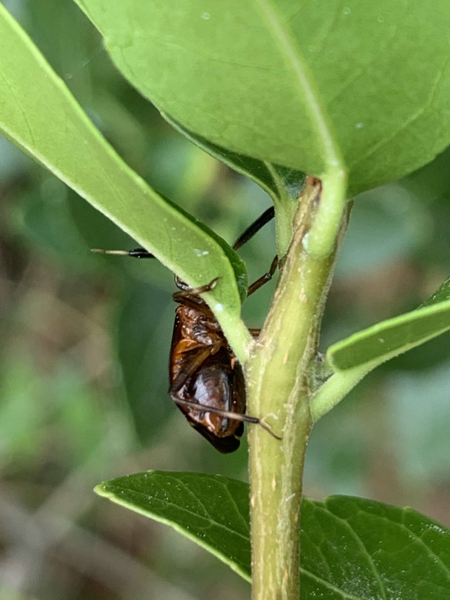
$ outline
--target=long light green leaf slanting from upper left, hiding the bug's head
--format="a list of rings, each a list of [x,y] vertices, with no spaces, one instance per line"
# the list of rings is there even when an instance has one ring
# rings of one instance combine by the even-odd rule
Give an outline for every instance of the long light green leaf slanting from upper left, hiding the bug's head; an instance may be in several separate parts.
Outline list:
[[[244,263],[223,239],[124,163],[2,4],[0,131],[188,284],[220,275],[206,299],[244,358],[249,339],[239,319],[247,293]]]

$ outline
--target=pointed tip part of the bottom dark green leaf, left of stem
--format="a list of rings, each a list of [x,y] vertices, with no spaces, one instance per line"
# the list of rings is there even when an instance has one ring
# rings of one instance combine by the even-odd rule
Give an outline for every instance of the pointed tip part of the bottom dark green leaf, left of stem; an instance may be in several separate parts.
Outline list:
[[[95,491],[170,525],[250,581],[247,484],[220,475],[149,471],[111,479]]]

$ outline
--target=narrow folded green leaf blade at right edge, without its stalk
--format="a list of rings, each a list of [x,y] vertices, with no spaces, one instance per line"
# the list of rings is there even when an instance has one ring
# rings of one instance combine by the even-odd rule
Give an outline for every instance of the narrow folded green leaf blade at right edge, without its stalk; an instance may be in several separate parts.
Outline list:
[[[377,323],[330,346],[335,371],[381,364],[450,329],[450,278],[416,310]]]

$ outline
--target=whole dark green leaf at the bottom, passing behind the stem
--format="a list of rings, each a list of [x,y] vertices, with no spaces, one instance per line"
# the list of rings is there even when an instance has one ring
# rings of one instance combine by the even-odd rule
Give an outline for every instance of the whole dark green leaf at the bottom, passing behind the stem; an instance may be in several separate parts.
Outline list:
[[[95,488],[166,523],[250,581],[248,485],[220,475],[149,471]],[[410,508],[330,496],[304,499],[301,599],[445,600],[450,532]]]

